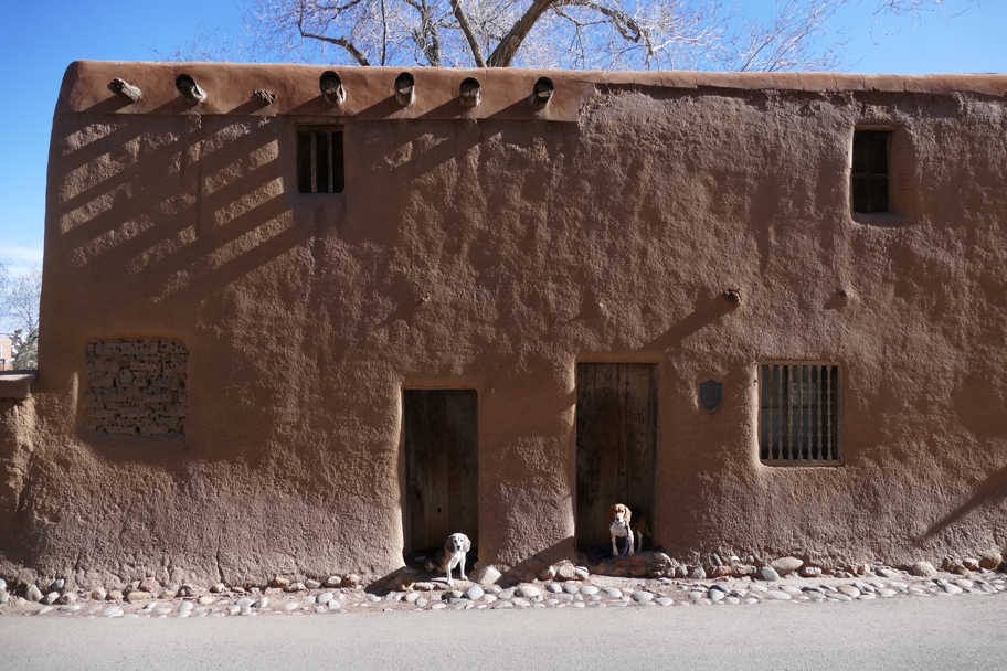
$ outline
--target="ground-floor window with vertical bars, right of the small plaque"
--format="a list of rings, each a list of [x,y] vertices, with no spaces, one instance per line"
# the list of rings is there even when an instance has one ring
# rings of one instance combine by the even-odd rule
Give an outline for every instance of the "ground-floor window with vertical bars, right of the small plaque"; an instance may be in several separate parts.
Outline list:
[[[764,363],[759,450],[764,464],[841,464],[839,366],[825,363]]]

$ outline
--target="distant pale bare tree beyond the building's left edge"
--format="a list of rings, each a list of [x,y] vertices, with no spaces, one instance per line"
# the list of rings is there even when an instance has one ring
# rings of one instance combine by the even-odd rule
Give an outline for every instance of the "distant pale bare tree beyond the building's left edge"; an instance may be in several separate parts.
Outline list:
[[[39,298],[42,294],[42,269],[33,266],[26,273],[12,275],[7,262],[0,260],[0,322],[11,339],[13,366],[20,370],[39,366]]]

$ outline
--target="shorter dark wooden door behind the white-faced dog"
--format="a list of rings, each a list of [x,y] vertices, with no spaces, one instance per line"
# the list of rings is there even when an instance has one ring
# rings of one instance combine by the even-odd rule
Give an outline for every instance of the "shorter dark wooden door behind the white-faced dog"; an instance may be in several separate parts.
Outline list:
[[[441,547],[462,532],[478,543],[476,392],[406,390],[406,552]]]

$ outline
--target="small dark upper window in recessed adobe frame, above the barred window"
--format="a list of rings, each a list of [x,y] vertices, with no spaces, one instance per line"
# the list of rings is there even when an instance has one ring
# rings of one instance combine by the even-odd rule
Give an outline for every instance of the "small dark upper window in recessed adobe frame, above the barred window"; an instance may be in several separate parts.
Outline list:
[[[905,128],[857,128],[850,152],[850,209],[862,224],[912,222],[915,167]]]

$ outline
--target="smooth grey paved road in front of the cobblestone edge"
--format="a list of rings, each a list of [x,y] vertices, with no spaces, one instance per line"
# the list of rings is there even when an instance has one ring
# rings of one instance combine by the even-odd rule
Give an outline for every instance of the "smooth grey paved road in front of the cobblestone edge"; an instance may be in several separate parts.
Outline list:
[[[1007,595],[851,604],[0,618],[0,669],[1007,669]]]

